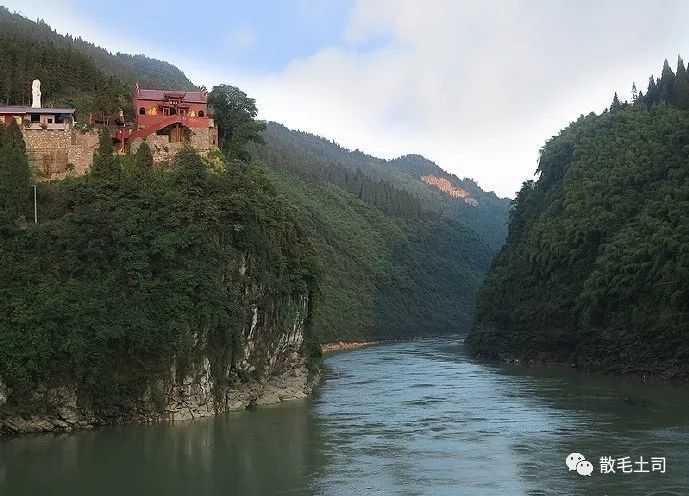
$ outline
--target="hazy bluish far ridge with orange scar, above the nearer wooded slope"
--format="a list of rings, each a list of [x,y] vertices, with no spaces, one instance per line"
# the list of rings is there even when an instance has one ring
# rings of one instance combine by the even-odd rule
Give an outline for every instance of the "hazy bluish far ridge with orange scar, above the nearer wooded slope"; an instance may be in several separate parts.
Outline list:
[[[483,191],[470,179],[459,179],[420,155],[383,160],[274,122],[268,123],[265,139],[268,150],[260,153],[267,162],[279,160],[284,152],[291,157],[284,166],[293,172],[302,176],[327,177],[369,203],[376,189],[371,185],[378,183],[379,188],[389,189],[385,193],[375,193],[379,198],[385,198],[376,203],[386,203],[383,208],[421,210],[459,218],[494,249],[505,240],[509,200]],[[363,177],[369,180],[362,183],[360,178]],[[452,196],[433,184],[443,181],[455,190],[465,192],[466,196]]]

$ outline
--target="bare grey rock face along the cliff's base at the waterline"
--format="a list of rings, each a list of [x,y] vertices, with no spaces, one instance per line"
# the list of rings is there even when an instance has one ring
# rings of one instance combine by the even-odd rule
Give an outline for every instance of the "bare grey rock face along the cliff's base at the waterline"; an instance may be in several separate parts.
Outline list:
[[[186,365],[184,374],[177,366],[172,367],[168,377],[153,383],[136,406],[124,413],[82,405],[78,392],[69,387],[38,388],[37,397],[51,405],[48,413],[0,415],[0,435],[69,432],[125,422],[183,421],[306,398],[319,380],[319,374],[307,367],[304,345],[308,296],[277,297],[252,282],[244,262],[239,272],[246,280],[239,353],[217,353],[206,342],[207,336],[197,334],[199,360]],[[218,362],[211,356],[227,358]],[[0,408],[8,395],[0,379]]]

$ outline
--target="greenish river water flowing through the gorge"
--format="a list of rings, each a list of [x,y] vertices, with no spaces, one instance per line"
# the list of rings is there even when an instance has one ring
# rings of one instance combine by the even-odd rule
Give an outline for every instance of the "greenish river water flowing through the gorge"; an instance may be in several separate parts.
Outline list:
[[[689,495],[686,387],[486,364],[452,339],[326,368],[303,402],[0,441],[0,494]],[[571,452],[590,476],[567,469]],[[636,471],[601,473],[602,456]]]

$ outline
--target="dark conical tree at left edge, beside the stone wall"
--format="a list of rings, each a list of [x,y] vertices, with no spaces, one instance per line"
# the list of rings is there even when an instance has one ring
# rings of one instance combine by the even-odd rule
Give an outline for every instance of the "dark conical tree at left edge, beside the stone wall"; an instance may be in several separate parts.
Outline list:
[[[0,210],[12,219],[21,216],[26,209],[31,176],[24,137],[17,123],[12,122],[0,132]]]

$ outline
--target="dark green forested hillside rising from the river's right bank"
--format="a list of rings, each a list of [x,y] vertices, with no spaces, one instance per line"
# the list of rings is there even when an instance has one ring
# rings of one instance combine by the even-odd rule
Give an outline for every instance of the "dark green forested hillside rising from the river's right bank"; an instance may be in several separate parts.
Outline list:
[[[645,95],[615,95],[543,147],[479,292],[475,353],[689,377],[689,105],[678,66],[666,61]]]

